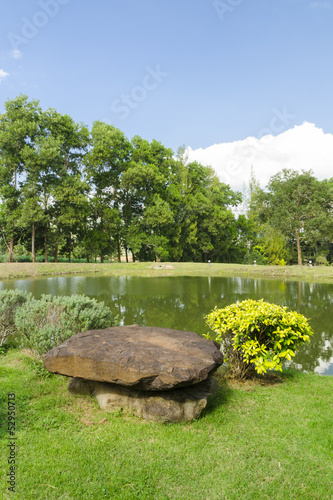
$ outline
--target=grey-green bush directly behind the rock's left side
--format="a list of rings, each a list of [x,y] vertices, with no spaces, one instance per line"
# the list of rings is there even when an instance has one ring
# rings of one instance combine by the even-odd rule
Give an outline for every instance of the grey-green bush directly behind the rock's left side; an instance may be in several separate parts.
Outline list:
[[[104,302],[84,295],[42,295],[17,310],[15,324],[22,334],[22,346],[42,355],[72,335],[112,326],[112,318]]]

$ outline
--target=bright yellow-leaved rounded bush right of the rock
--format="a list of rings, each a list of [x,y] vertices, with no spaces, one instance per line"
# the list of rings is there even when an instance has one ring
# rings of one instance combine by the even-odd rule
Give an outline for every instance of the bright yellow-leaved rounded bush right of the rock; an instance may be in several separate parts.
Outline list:
[[[215,308],[206,319],[216,333],[215,340],[221,342],[231,374],[240,379],[255,371],[281,371],[283,360],[290,360],[313,335],[304,316],[263,300]]]

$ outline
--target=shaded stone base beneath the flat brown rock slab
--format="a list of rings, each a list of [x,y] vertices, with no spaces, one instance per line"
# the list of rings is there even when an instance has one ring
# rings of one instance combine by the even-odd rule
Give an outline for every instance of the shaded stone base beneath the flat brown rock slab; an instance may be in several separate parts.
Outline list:
[[[190,422],[216,395],[217,381],[209,378],[198,384],[170,391],[136,391],[117,384],[72,378],[68,390],[94,396],[100,408],[114,412],[119,408],[144,418],[160,422]]]

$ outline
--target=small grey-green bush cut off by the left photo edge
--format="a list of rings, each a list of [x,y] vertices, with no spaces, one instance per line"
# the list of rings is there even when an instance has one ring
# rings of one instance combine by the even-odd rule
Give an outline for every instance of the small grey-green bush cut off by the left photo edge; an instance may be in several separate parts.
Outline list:
[[[31,300],[31,293],[22,290],[0,292],[0,347],[8,342],[8,335],[15,335],[17,328],[14,317],[17,309]]]

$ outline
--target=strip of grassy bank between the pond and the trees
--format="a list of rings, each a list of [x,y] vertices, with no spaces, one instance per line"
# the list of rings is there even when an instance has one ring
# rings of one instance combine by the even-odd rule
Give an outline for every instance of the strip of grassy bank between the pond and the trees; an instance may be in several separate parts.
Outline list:
[[[167,269],[172,267],[172,269]],[[333,283],[333,266],[253,266],[243,264],[122,263],[122,264],[54,264],[1,263],[0,280],[59,276],[65,274],[109,274],[116,276],[240,276],[248,278],[283,278],[310,282]]]

